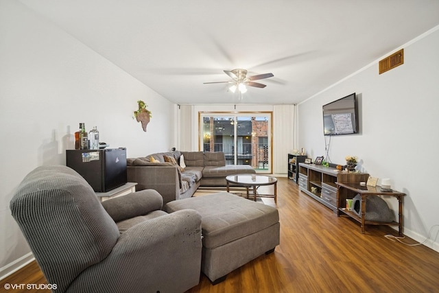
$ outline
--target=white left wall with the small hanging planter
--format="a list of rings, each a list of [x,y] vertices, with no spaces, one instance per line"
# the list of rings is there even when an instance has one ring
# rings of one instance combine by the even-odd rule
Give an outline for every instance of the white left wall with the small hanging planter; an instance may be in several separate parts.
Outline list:
[[[147,132],[132,119],[139,99]],[[0,1],[0,111],[0,278],[32,257],[10,215],[16,187],[39,165],[65,165],[80,122],[128,157],[174,144],[171,102],[16,1]]]

